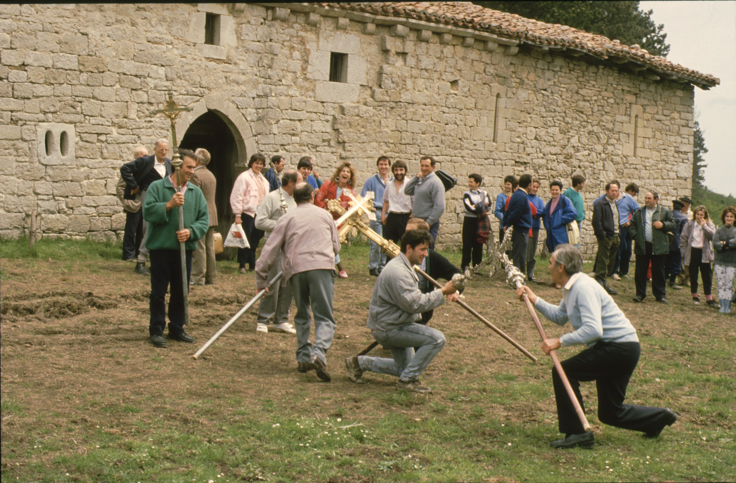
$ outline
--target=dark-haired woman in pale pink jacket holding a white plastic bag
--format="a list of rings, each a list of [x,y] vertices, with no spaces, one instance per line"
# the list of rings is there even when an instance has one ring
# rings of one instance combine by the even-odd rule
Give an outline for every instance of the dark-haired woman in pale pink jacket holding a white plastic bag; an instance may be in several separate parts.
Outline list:
[[[263,198],[269,193],[269,182],[261,174],[266,157],[263,154],[253,154],[248,162],[246,171],[238,176],[230,193],[230,207],[235,213],[235,222],[243,226],[245,237],[250,248],[238,248],[238,265],[240,273],[245,273],[245,264],[248,270],[255,268],[255,248],[263,237],[263,231],[255,228],[255,209],[263,202]]]

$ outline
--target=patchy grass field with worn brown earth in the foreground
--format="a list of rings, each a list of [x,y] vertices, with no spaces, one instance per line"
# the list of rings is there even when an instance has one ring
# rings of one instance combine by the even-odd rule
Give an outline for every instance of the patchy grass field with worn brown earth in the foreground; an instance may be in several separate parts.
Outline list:
[[[367,252],[343,248],[350,278],[336,282],[324,383],[296,371],[293,336],[255,333],[253,311],[191,358],[255,293],[234,262],[191,291],[197,343],[158,349],[147,337],[149,280],[117,260],[119,246],[0,241],[2,482],[736,479],[736,315],[694,307],[687,290],[668,293],[668,306],[634,304],[633,281],[613,282],[642,342],[627,401],[670,407],[679,421],[655,440],[605,426],[595,385],[583,384],[596,446],[555,451],[551,361],[503,282],[475,277],[466,301],[537,364],[453,304],[431,321],[447,337],[422,376],[434,393],[397,391],[389,376],[347,379],[344,357],[372,341]],[[546,265],[538,278],[549,279]],[[551,337],[570,330],[543,323]]]

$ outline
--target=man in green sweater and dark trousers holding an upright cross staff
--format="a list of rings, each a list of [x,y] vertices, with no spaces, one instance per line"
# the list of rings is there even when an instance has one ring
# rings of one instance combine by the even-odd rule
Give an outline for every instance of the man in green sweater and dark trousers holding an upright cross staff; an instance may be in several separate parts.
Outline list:
[[[194,337],[184,332],[184,293],[180,242],[185,242],[187,280],[191,273],[192,252],[197,240],[205,236],[210,226],[207,201],[199,187],[189,184],[197,165],[197,154],[188,149],[179,151],[184,163],[180,168],[181,189],[177,192],[177,175],[152,182],[146,193],[143,218],[148,221],[146,248],[151,260],[151,321],[149,335],[156,347],[166,347],[163,329],[166,327],[166,289],[169,297],[169,339],[193,343]],[[183,206],[184,226],[179,229],[178,207]]]

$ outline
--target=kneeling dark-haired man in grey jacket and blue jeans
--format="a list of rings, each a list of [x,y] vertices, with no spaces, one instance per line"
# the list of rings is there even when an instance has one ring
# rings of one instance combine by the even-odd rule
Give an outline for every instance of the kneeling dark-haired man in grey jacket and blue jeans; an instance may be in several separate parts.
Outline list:
[[[413,267],[427,256],[430,243],[429,232],[409,230],[401,237],[401,254],[388,262],[378,276],[370,299],[368,328],[394,358],[347,357],[345,365],[351,381],[364,383],[364,371],[391,374],[399,378],[397,389],[431,393],[431,388],[417,378],[445,346],[445,335],[417,321],[422,312],[444,304],[443,296],[456,301],[459,293],[452,282],[430,293],[420,292],[419,276]],[[418,347],[416,353],[414,347]]]

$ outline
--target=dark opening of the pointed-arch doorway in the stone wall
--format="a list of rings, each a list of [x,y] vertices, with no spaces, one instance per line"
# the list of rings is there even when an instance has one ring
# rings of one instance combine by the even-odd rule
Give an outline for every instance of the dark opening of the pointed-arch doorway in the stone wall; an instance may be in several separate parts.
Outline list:
[[[186,130],[180,146],[185,149],[204,148],[210,151],[212,160],[207,168],[217,179],[215,205],[217,207],[217,228],[220,233],[227,233],[233,223],[233,210],[230,209],[230,190],[233,189],[236,176],[242,171],[236,170],[241,159],[238,143],[233,132],[214,111],[200,115]]]

